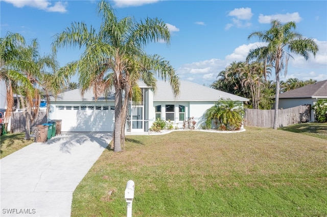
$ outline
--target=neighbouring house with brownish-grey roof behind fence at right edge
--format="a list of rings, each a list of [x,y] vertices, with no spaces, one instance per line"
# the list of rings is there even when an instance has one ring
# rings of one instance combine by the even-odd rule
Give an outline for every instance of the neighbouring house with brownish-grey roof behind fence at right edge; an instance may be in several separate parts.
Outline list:
[[[290,108],[305,104],[313,106],[319,99],[327,99],[327,80],[279,94],[278,108]],[[314,121],[313,111],[311,111],[311,117],[311,120]]]

